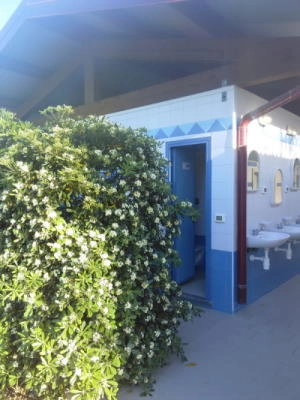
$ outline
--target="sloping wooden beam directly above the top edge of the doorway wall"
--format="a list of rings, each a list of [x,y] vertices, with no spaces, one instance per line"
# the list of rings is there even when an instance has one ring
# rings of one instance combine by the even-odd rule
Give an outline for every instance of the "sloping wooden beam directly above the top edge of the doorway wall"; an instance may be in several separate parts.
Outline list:
[[[265,61],[261,60],[261,64],[263,65]],[[298,60],[289,64],[289,72],[286,70],[286,64],[276,64],[274,60],[273,62],[270,60],[266,63],[268,64],[266,68],[260,69],[255,69],[249,64],[247,67],[247,62],[248,60],[243,60],[159,85],[107,98],[89,106],[78,107],[77,112],[81,115],[90,113],[105,115],[216,89],[221,87],[224,81],[228,85],[234,84],[241,87],[248,87],[257,83],[283,79],[288,74],[289,76],[296,76],[300,73]]]

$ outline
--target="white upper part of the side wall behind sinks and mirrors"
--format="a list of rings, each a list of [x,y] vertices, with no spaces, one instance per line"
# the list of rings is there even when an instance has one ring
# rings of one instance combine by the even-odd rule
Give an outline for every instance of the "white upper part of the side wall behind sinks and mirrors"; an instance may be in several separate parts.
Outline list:
[[[238,115],[253,111],[266,101],[245,90],[235,88],[235,104]],[[247,229],[251,231],[262,221],[273,226],[281,222],[282,217],[296,217],[300,214],[300,191],[290,190],[293,179],[293,163],[300,158],[300,137],[286,136],[290,127],[300,133],[300,118],[284,109],[276,109],[269,114],[270,125],[261,126],[253,121],[248,129],[248,154],[255,150],[260,158],[260,189],[247,194]],[[274,175],[280,169],[283,173],[283,201],[273,204]],[[263,189],[267,192],[263,194]]]

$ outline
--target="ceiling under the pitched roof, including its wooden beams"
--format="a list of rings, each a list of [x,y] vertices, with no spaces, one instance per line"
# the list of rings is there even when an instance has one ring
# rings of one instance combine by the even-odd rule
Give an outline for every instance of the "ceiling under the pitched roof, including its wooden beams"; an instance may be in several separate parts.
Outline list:
[[[300,83],[299,44],[299,0],[23,1],[0,32],[0,106],[106,113],[227,84],[271,99]]]

